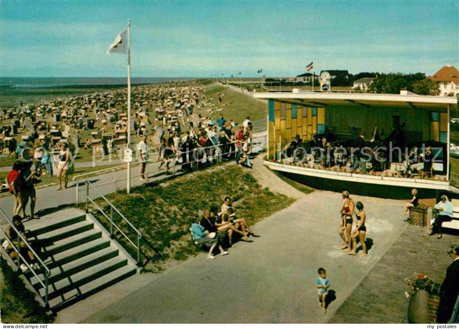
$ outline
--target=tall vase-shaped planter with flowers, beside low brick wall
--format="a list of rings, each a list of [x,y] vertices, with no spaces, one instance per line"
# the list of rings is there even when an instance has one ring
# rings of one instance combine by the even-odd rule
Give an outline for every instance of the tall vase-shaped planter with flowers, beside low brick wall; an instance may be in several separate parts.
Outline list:
[[[427,277],[427,274],[416,273],[413,278],[405,279],[409,285],[409,292],[405,295],[410,298],[408,305],[409,323],[427,323],[427,298],[428,292],[434,282]]]

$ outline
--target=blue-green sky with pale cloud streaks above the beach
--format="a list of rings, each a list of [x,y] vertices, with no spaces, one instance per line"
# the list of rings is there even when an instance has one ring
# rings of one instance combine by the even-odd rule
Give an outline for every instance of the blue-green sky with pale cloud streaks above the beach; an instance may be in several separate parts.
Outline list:
[[[128,19],[132,77],[459,67],[459,0],[1,0],[0,76],[124,77],[106,50]]]

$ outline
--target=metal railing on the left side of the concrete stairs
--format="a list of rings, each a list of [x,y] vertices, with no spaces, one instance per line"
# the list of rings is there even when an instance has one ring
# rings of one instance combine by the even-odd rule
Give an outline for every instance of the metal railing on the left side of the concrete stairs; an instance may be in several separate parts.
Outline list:
[[[29,270],[34,274],[35,278],[37,278],[38,282],[45,289],[45,296],[44,296],[45,297],[45,299],[44,299],[45,307],[49,307],[49,305],[48,305],[48,278],[50,276],[50,269],[45,265],[45,262],[43,262],[41,257],[38,256],[38,254],[30,246],[30,244],[27,242],[27,240],[21,235],[21,232],[19,232],[16,229],[14,224],[8,219],[8,217],[6,217],[5,213],[1,209],[0,209],[0,213],[2,214],[3,217],[5,217],[6,221],[10,224],[11,229],[13,229],[17,234],[17,241],[16,241],[16,244],[15,244],[13,241],[11,241],[8,238],[6,232],[3,229],[0,228],[0,232],[3,234],[5,240],[8,241],[8,244],[11,246],[11,248],[15,252],[17,252],[17,255],[18,255],[17,264],[10,257],[8,251],[6,251],[6,248],[4,248],[3,245],[0,245],[0,250],[2,251],[1,253],[5,257],[5,259],[10,263],[10,265],[12,265],[13,270],[17,271],[18,269],[20,269],[21,261],[22,261],[23,264],[25,264],[29,268]],[[40,263],[40,267],[39,268],[43,268],[43,274],[45,276],[44,282],[43,282],[42,279],[40,279],[39,273],[36,273],[35,269],[31,266],[31,264],[29,264],[28,261],[25,259],[25,257],[22,256],[22,254],[21,254],[21,243],[23,243],[25,245],[25,247],[27,247],[28,250],[34,254],[35,260]],[[22,246],[22,248],[24,248],[24,246]],[[38,291],[37,291],[37,293],[38,293]],[[38,295],[40,296],[40,294],[38,294]],[[40,298],[43,298],[43,297],[40,296]]]

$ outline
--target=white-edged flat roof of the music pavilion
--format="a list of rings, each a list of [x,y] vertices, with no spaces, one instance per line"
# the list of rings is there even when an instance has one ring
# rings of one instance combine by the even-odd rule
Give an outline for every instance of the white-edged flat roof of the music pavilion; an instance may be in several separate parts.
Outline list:
[[[271,92],[255,93],[254,98],[298,100],[311,106],[350,105],[356,104],[365,107],[371,106],[397,106],[406,108],[429,108],[432,110],[457,109],[456,97],[448,96],[423,96],[423,95],[393,95],[369,93],[323,93],[323,92]]]

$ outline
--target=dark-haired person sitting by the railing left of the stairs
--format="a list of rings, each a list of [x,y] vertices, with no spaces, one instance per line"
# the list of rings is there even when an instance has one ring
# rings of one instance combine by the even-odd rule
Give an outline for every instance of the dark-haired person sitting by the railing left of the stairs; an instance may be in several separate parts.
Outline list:
[[[23,240],[27,241],[27,238],[26,238],[26,235],[25,235],[24,224],[22,224],[21,221],[22,221],[22,217],[21,216],[14,215],[13,216],[13,226],[14,226],[14,228],[10,225],[6,229],[6,236],[8,237],[8,239],[11,240],[11,242],[15,245],[16,248],[18,247],[16,230],[19,232],[19,234],[21,234]],[[19,242],[21,256],[26,260],[26,262],[31,264],[32,268],[38,269],[39,268],[39,264],[35,260],[34,253],[32,251],[30,251],[30,249],[27,247],[27,245],[24,243],[23,240],[20,239],[20,242]],[[6,249],[6,252],[8,252],[8,254],[10,255],[11,259],[18,259],[19,258],[19,255],[18,255],[17,251],[14,250],[14,248],[11,245],[7,245],[5,249]],[[28,267],[23,263],[21,264],[20,268],[22,269],[22,271],[26,271],[28,269]]]

